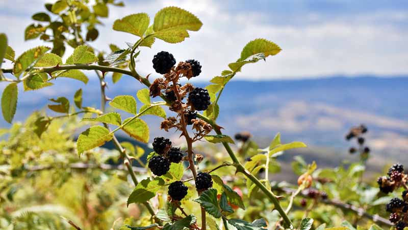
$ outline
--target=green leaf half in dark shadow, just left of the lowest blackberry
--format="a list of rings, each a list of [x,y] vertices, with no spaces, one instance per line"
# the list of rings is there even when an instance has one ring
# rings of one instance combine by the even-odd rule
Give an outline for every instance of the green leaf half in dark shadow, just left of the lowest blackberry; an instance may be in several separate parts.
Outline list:
[[[164,180],[156,177],[153,180],[150,178],[140,181],[133,190],[129,198],[127,198],[127,206],[131,203],[143,203],[156,196],[156,193],[164,186]]]

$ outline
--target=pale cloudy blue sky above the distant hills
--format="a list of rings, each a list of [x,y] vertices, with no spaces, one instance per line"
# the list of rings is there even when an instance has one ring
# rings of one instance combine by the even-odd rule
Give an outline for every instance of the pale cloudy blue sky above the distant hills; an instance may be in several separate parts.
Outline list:
[[[0,1],[0,32],[7,34],[17,55],[41,44],[39,40],[24,42],[23,32],[32,23],[32,14],[45,11],[46,2],[55,1]],[[94,47],[108,51],[110,43],[126,48],[124,42],[136,41],[137,37],[131,34],[111,29],[115,19],[132,13],[146,12],[152,23],[158,10],[177,6],[203,22],[201,30],[190,32],[190,38],[182,43],[157,40],[152,49],[143,48],[137,70],[146,75],[154,73],[152,56],[165,50],[177,61],[199,60],[200,80],[211,79],[240,56],[248,41],[259,37],[275,42],[282,52],[268,57],[266,62],[246,65],[237,79],[408,74],[405,0],[127,0],[124,4],[124,8],[110,7],[110,16],[102,20],[104,26],[98,28]]]

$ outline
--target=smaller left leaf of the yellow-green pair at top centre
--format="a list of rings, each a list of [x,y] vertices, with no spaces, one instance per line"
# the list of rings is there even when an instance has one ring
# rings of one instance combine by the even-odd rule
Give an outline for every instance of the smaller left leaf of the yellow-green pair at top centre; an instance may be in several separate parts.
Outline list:
[[[131,14],[115,20],[113,29],[143,37],[149,26],[150,18],[146,13]]]

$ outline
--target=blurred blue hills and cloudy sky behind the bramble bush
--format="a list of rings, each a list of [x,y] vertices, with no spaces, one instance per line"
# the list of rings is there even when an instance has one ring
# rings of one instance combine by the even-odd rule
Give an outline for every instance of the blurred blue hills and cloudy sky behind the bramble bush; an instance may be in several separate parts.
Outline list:
[[[31,15],[45,11],[43,0],[0,1],[0,32],[18,56],[41,41],[24,41],[24,29]],[[55,2],[55,1],[54,1]],[[408,155],[408,4],[406,1],[123,1],[125,8],[110,7],[101,19],[99,37],[93,47],[109,51],[113,43],[126,48],[135,37],[113,31],[117,18],[146,12],[151,18],[158,9],[178,6],[200,18],[203,26],[191,32],[181,44],[157,40],[152,49],[143,48],[136,68],[140,74],[156,73],[152,56],[162,50],[177,61],[194,58],[202,65],[201,75],[192,81],[206,86],[228,63],[239,57],[250,40],[264,37],[277,43],[282,52],[267,62],[247,65],[228,83],[220,99],[218,123],[225,133],[249,131],[253,140],[266,147],[277,132],[283,142],[302,141],[309,148],[286,154],[289,163],[301,154],[319,167],[337,166],[342,160],[358,160],[348,154],[345,140],[350,127],[368,127],[366,144],[371,149],[368,168],[379,171],[385,163],[406,162]],[[72,50],[67,48],[65,59]],[[4,66],[7,67],[7,66]],[[72,79],[58,79],[53,87],[32,92],[20,89],[14,121],[46,107],[57,96],[72,98],[83,88],[84,105],[99,105],[99,83],[87,72],[87,85]],[[156,76],[157,77],[157,76]],[[142,85],[130,77],[113,84],[108,76],[107,94],[136,95]],[[6,84],[0,85],[3,90]],[[51,114],[50,111],[47,113]],[[170,114],[170,113],[169,113]],[[159,130],[160,118],[147,118],[150,139],[178,135]],[[1,127],[10,127],[3,119]],[[283,167],[285,170],[285,167]],[[290,169],[288,169],[290,170]],[[285,173],[285,172],[283,172]]]

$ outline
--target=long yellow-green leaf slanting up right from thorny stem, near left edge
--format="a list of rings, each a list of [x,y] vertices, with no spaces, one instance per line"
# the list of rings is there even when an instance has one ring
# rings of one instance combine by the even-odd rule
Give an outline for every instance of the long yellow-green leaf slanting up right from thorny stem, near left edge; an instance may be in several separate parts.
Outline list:
[[[23,71],[27,70],[30,65],[41,58],[48,50],[48,47],[36,47],[21,54],[14,63],[14,76],[19,77]]]

